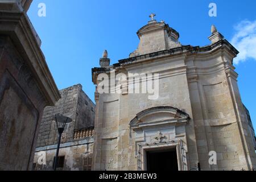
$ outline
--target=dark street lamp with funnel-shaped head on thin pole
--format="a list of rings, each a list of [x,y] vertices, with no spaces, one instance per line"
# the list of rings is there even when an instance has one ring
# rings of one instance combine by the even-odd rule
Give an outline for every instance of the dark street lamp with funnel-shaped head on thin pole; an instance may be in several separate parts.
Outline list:
[[[55,156],[55,160],[54,160],[54,164],[53,164],[53,171],[56,171],[58,158],[59,158],[61,135],[62,135],[62,133],[65,129],[66,124],[72,122],[72,119],[69,118],[69,117],[66,117],[64,115],[60,115],[60,114],[55,114],[54,117],[55,117],[55,122],[56,122],[56,125],[57,125],[57,130],[58,130],[58,133],[59,133],[57,151],[56,151],[56,156]]]

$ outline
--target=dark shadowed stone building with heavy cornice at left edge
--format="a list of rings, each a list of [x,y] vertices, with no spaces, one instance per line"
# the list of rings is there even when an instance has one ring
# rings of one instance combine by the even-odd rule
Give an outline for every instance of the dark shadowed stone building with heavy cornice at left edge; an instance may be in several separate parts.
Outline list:
[[[0,1],[0,170],[30,170],[45,106],[60,94],[26,12],[32,0]]]

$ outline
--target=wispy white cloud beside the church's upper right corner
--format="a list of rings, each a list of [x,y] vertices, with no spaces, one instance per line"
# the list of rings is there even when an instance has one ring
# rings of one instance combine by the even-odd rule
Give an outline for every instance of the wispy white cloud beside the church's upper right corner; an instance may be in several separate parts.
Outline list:
[[[256,20],[251,22],[243,20],[238,23],[231,44],[240,52],[234,59],[234,64],[245,61],[246,59],[256,60]]]

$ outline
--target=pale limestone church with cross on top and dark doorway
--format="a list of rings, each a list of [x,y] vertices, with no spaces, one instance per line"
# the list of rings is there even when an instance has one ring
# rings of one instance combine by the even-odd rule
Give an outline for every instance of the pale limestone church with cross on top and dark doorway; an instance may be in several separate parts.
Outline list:
[[[256,168],[254,130],[233,66],[237,49],[214,26],[208,46],[184,46],[179,33],[157,22],[154,14],[137,35],[139,46],[129,58],[109,65],[105,53],[101,68],[92,69],[96,85],[92,168],[185,171],[199,164],[202,170]],[[143,76],[136,82],[131,73]],[[159,89],[154,99],[141,91],[143,84],[150,84],[146,77],[150,73],[158,74],[151,78]],[[121,77],[113,77],[118,74]],[[107,78],[110,83],[103,86]],[[209,163],[213,151],[217,164]]]

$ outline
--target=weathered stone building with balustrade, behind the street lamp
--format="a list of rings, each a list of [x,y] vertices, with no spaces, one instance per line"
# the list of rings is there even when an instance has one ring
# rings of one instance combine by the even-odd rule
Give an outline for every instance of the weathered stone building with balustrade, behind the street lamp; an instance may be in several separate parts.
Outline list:
[[[52,170],[56,154],[58,133],[53,119],[55,114],[63,114],[72,119],[65,127],[59,152],[59,170],[90,170],[93,152],[94,103],[82,91],[82,86],[74,85],[60,90],[61,99],[55,106],[44,109],[40,125],[38,143],[34,158],[34,170]],[[40,156],[46,163],[40,163]]]

